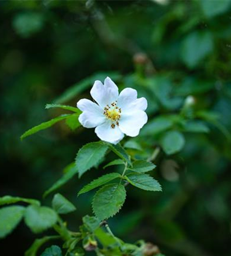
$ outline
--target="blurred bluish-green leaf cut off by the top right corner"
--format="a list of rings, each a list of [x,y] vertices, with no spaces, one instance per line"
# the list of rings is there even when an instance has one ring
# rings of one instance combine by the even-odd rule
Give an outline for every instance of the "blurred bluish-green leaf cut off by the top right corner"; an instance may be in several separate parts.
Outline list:
[[[219,1],[204,1],[200,0],[200,6],[203,10],[203,13],[206,17],[212,18],[214,16],[220,15],[230,8],[230,1],[228,0],[219,0]]]

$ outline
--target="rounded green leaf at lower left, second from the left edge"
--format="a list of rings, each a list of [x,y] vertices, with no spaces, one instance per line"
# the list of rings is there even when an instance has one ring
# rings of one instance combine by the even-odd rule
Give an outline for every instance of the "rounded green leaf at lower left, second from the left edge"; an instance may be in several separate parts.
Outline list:
[[[57,214],[49,207],[31,205],[26,209],[25,222],[34,233],[39,233],[52,227],[56,221]]]

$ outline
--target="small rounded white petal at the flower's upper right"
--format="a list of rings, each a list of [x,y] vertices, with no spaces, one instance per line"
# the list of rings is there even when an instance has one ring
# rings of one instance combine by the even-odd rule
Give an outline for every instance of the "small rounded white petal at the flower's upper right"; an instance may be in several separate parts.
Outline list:
[[[137,91],[132,88],[125,88],[119,95],[117,105],[119,108],[126,109],[137,98]]]

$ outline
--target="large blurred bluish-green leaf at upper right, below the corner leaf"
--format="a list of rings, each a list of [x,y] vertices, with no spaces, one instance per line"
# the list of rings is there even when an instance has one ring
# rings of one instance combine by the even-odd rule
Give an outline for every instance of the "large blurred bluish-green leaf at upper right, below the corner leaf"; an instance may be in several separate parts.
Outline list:
[[[210,32],[193,32],[183,41],[181,59],[189,68],[195,68],[213,51],[213,38]]]

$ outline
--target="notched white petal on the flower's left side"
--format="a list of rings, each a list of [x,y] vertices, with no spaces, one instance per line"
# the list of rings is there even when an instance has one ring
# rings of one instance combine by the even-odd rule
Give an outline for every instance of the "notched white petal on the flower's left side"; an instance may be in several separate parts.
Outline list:
[[[83,111],[79,116],[79,122],[86,128],[94,128],[105,121],[103,110],[96,103],[81,99],[77,102],[77,107]]]

